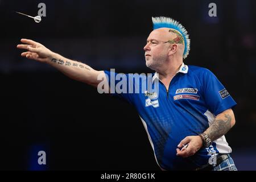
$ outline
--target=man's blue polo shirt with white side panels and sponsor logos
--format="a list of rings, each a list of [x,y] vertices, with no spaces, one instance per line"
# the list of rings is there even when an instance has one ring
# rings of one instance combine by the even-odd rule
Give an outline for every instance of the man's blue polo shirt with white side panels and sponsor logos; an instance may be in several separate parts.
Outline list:
[[[216,115],[236,105],[225,87],[208,69],[192,65],[181,65],[172,78],[168,90],[159,80],[158,74],[152,77],[152,89],[142,90],[148,77],[141,75],[139,82],[131,81],[129,74],[113,81],[110,75],[117,73],[105,71],[109,85],[117,86],[123,80],[127,88],[141,89],[139,93],[120,93],[114,96],[126,100],[138,111],[148,134],[158,165],[167,170],[195,169],[208,163],[211,152],[229,154],[232,149],[225,136],[214,140],[209,148],[202,147],[188,158],[176,156],[177,144],[187,136],[199,135],[211,125]],[[135,76],[136,77],[136,76]],[[119,82],[120,84],[120,82]],[[117,86],[116,89],[121,88]]]

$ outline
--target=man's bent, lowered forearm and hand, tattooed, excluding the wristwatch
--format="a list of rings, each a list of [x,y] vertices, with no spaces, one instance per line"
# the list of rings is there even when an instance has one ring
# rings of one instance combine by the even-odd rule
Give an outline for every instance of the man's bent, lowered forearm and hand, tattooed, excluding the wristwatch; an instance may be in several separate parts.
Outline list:
[[[225,135],[236,123],[234,113],[232,109],[227,109],[222,113],[218,114],[214,119],[212,125],[204,131],[208,135],[210,140],[214,141],[223,135]],[[182,148],[183,145],[188,143],[187,148]],[[200,136],[189,136],[185,137],[177,147],[177,155],[187,158],[188,156],[194,155],[203,146],[203,140]]]

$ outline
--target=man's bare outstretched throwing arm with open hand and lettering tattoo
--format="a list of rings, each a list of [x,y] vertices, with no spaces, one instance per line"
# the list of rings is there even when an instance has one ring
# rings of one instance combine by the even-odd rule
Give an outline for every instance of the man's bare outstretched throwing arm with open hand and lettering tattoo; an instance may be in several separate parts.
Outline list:
[[[103,74],[103,71],[96,71],[86,64],[67,59],[33,40],[21,39],[20,41],[23,44],[19,44],[17,48],[27,49],[26,52],[22,52],[21,56],[50,64],[73,80],[85,82],[95,87],[101,82],[101,80],[97,80],[97,77]]]

